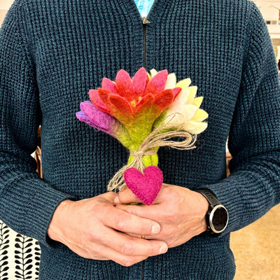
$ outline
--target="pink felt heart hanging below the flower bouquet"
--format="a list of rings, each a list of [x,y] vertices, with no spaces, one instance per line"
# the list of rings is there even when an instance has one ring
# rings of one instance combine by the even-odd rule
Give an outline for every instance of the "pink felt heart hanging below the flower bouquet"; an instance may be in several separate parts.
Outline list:
[[[132,193],[147,205],[151,205],[162,187],[162,171],[156,166],[149,166],[142,174],[138,169],[131,167],[125,171],[125,183]]]

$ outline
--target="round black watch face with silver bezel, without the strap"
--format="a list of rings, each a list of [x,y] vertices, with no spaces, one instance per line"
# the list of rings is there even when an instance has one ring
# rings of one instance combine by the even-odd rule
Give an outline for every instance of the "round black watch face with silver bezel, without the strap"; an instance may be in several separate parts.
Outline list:
[[[223,205],[214,207],[210,215],[210,224],[212,225],[212,230],[216,233],[223,232],[228,225],[228,211]]]

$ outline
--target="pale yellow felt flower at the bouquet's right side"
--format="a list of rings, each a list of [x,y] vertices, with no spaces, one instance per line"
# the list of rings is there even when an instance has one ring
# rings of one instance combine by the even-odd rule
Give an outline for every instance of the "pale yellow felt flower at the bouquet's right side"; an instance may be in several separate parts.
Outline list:
[[[151,77],[155,76],[158,72],[155,69],[151,70]],[[200,109],[203,97],[196,97],[197,87],[190,86],[190,78],[176,83],[175,73],[170,73],[167,76],[165,83],[165,90],[174,87],[181,87],[181,92],[178,94],[174,102],[167,109],[166,116],[172,113],[180,113],[184,118],[183,130],[190,134],[200,134],[207,129],[207,123],[204,122],[208,118],[208,113]],[[176,116],[172,118],[172,124],[179,125],[182,123],[182,118]]]

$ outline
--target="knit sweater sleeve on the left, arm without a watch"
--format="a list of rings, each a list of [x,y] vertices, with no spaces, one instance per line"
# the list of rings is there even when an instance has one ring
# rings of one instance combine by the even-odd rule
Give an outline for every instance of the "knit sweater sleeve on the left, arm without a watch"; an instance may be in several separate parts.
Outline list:
[[[41,111],[16,2],[0,29],[0,219],[47,245],[53,211],[73,197],[40,179],[30,156],[36,150]]]

